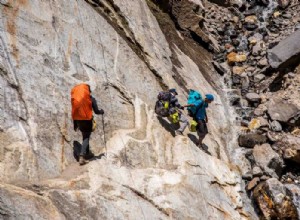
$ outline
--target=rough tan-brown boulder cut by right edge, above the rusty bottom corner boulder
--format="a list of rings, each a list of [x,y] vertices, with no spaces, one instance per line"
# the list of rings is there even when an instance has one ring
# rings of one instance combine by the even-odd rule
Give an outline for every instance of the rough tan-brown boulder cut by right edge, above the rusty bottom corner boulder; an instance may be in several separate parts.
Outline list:
[[[277,141],[274,146],[283,151],[284,159],[300,164],[300,137],[287,134]]]

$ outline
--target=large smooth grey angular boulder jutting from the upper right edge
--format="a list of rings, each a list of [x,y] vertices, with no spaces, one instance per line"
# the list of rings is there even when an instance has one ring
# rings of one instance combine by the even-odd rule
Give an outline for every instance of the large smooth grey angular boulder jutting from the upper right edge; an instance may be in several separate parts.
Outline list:
[[[268,51],[268,61],[271,67],[285,67],[299,63],[300,60],[300,30],[297,30],[275,47]]]

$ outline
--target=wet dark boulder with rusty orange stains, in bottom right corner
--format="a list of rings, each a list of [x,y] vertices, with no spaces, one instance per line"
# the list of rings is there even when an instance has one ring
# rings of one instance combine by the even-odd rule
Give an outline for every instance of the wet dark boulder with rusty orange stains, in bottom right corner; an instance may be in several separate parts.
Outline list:
[[[253,191],[253,198],[265,219],[298,219],[297,207],[276,178],[260,183]]]

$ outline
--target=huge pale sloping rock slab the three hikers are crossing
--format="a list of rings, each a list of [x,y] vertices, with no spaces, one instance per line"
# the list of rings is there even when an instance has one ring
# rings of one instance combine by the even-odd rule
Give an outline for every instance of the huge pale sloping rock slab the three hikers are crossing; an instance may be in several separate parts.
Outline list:
[[[237,132],[211,58],[156,5],[9,0],[0,11],[0,218],[257,219],[229,163]],[[70,115],[80,82],[105,111],[84,167]],[[211,155],[154,115],[158,91],[173,87],[182,103],[187,88],[215,95]]]

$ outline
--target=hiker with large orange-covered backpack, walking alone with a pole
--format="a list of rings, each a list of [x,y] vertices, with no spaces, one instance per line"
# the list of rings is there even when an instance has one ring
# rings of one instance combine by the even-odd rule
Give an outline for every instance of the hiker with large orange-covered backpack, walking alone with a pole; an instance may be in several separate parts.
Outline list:
[[[85,157],[90,154],[89,139],[93,132],[93,111],[95,114],[104,114],[103,109],[99,109],[96,99],[91,95],[88,84],[79,84],[71,91],[72,118],[74,130],[78,128],[82,133],[82,146],[79,155],[79,164],[84,165],[88,161]]]

